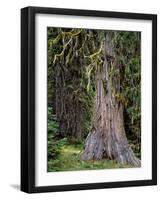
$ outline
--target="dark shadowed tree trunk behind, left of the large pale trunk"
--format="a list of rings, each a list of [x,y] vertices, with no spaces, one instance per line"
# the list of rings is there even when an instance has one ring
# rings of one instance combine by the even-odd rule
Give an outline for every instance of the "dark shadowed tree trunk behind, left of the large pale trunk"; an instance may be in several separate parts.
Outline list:
[[[73,76],[76,79],[77,77]],[[68,87],[66,82],[70,81],[70,71],[64,63],[56,65],[56,92],[55,92],[55,114],[59,122],[60,136],[71,137],[79,140],[82,137],[81,128],[81,105],[74,93],[74,88]]]

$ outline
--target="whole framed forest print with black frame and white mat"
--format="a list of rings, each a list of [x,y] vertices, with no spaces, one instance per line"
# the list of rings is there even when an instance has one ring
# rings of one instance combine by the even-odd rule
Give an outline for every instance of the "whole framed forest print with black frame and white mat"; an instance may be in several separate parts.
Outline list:
[[[21,190],[157,184],[157,16],[21,9]]]

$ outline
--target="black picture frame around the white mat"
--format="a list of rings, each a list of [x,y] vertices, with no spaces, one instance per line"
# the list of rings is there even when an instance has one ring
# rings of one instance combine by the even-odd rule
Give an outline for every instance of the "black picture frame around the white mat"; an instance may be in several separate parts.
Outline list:
[[[59,14],[152,21],[152,179],[35,186],[35,15]],[[45,7],[21,9],[21,190],[27,193],[147,186],[157,184],[157,15]]]

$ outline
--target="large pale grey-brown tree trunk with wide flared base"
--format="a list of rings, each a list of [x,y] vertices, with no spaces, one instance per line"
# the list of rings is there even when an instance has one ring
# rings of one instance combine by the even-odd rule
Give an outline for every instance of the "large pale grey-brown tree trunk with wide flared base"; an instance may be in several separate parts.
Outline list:
[[[124,129],[123,105],[112,94],[111,88],[119,90],[119,76],[112,81],[109,80],[110,63],[108,56],[114,56],[111,50],[110,39],[105,42],[104,65],[97,73],[96,108],[93,127],[89,133],[85,148],[81,155],[82,160],[100,160],[107,158],[118,163],[140,166],[128,144]],[[108,47],[106,47],[108,45]],[[116,62],[114,62],[117,67]]]

